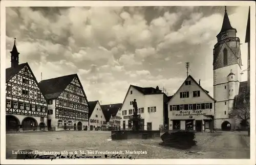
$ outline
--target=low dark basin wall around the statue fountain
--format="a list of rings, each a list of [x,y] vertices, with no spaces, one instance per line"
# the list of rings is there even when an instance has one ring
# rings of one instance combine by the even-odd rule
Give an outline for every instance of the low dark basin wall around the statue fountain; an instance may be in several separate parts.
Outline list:
[[[147,130],[121,130],[121,131],[111,131],[112,140],[123,140],[123,139],[131,139],[131,138],[155,138],[160,137],[160,131],[147,131]]]

